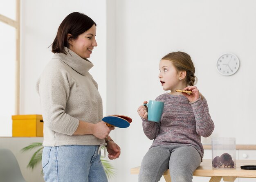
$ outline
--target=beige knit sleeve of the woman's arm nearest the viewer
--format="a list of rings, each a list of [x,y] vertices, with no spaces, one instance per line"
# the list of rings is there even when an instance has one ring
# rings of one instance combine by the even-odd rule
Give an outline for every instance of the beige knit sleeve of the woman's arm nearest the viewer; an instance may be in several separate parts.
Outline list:
[[[38,80],[37,90],[40,95],[45,127],[62,134],[74,134],[79,120],[65,112],[70,93],[67,72],[63,68],[50,64]]]

